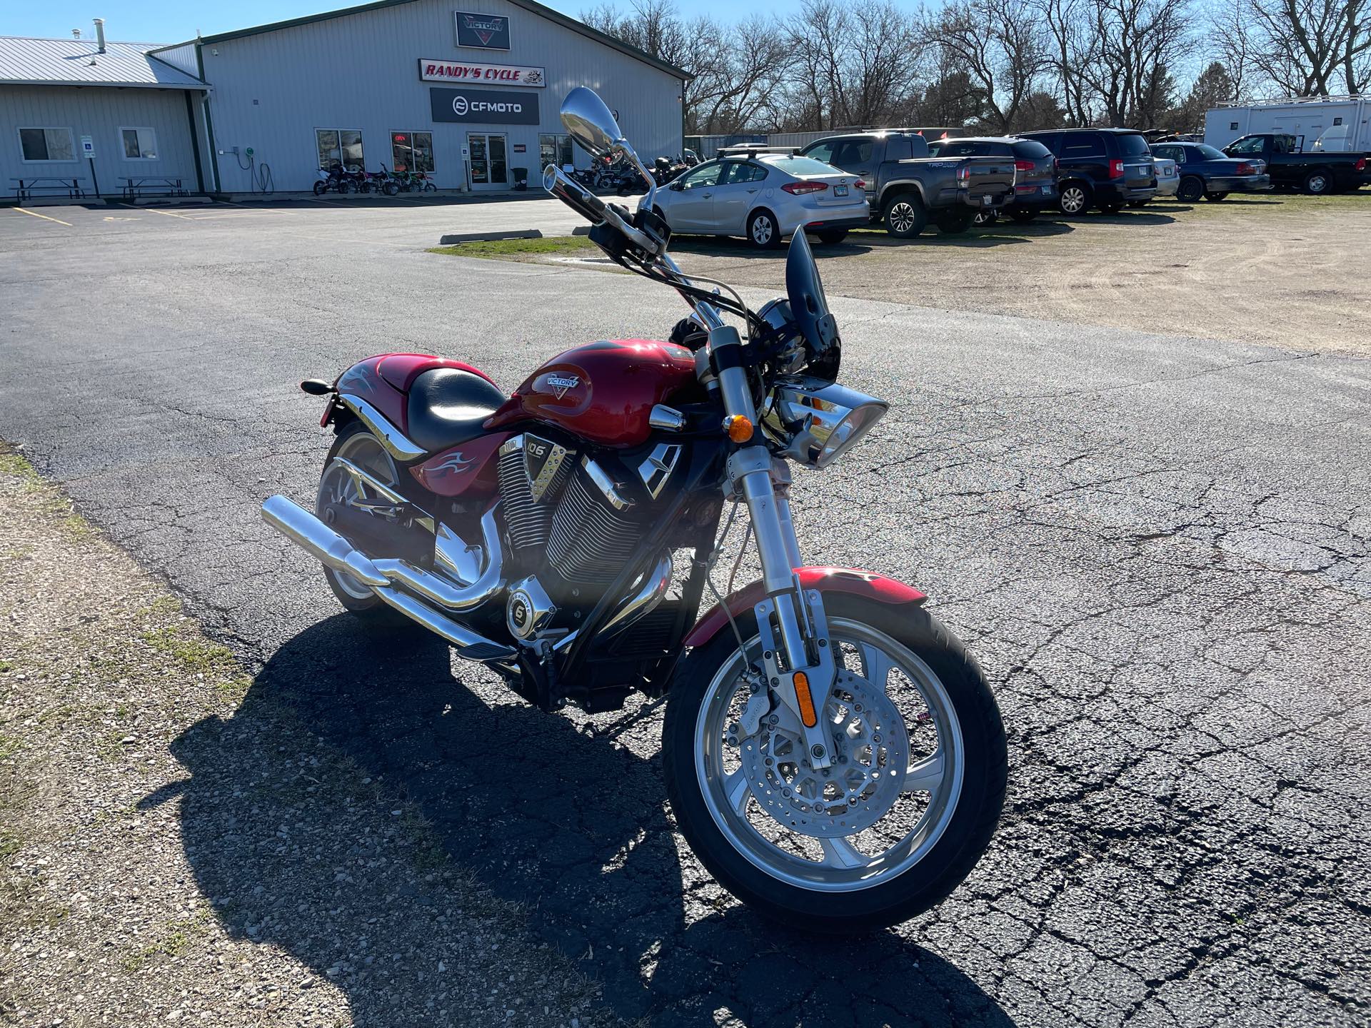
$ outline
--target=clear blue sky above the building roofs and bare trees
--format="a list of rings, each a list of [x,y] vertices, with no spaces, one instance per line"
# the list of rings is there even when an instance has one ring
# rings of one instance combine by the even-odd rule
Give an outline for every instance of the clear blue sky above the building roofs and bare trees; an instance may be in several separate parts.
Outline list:
[[[543,0],[573,18],[595,0]],[[47,3],[7,3],[0,5],[0,36],[52,36],[67,37],[73,29],[81,29],[81,37],[95,34],[92,18],[104,18],[106,33],[111,40],[129,42],[180,42],[195,37],[196,30],[206,36],[230,29],[245,29],[266,22],[281,22],[319,11],[333,11],[354,4],[341,0],[240,0],[233,4],[188,4],[185,0],[47,0]],[[459,4],[454,3],[454,8]],[[627,8],[627,1],[618,4]],[[775,11],[791,11],[799,7],[799,0],[772,0],[760,4]],[[736,0],[683,0],[681,12],[710,14],[724,19],[738,15]],[[751,8],[749,8],[751,10]]]

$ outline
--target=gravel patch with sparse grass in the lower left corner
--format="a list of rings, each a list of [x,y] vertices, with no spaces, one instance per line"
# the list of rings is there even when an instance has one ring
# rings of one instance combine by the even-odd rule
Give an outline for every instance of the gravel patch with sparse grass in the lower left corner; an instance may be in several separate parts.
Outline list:
[[[0,524],[0,1023],[617,1023],[4,444]]]

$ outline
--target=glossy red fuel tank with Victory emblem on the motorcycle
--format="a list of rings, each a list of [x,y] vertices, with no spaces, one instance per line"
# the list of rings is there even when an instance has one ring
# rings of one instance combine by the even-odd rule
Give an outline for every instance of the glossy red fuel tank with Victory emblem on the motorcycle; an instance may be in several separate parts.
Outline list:
[[[638,445],[651,432],[653,406],[695,385],[695,355],[686,347],[648,339],[588,343],[533,371],[485,428],[547,421],[592,443]]]

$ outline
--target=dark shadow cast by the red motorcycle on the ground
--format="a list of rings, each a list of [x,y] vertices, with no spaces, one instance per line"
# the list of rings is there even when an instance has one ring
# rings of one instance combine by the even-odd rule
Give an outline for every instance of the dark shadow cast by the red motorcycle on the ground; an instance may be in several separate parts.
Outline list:
[[[369,853],[366,840],[348,835],[355,805],[370,802],[374,822],[392,814],[398,795],[432,827],[439,862],[524,905],[528,928],[518,931],[557,946],[627,1021],[716,1024],[727,1009],[751,1028],[1013,1028],[967,975],[898,933],[787,932],[683,859],[655,757],[659,715],[611,740],[473,670],[492,703],[454,680],[448,648],[433,636],[372,633],[339,614],[287,641],[230,718],[206,718],[173,743],[189,772],[174,790],[186,854],[226,931],[330,975],[354,1024],[398,1024],[391,996],[439,988],[432,973],[425,980],[435,962],[424,958],[436,943],[436,887],[425,874],[433,866],[395,862],[378,883],[339,880],[341,865],[366,866],[355,857],[359,846]],[[328,790],[317,776],[330,761],[389,792]],[[284,780],[296,783],[284,800],[255,799],[254,790]],[[452,913],[457,924],[437,931],[463,929],[465,911]],[[373,942],[385,959],[363,962],[356,940],[377,939],[385,925],[407,938]],[[383,944],[417,955],[393,962]],[[522,992],[539,1009],[537,986]],[[465,1021],[458,1012],[424,1023]]]

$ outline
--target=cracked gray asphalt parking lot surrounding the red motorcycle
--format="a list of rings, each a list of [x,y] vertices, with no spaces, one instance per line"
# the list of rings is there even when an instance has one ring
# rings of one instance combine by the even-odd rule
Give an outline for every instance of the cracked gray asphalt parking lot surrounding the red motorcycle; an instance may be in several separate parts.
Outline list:
[[[562,344],[669,330],[680,302],[646,282],[422,252],[514,218],[566,232],[553,201],[0,210],[0,437],[166,574],[259,669],[254,689],[398,783],[457,865],[525,903],[602,984],[605,1020],[1371,1024],[1371,363],[1341,352],[1367,307],[1364,282],[1328,286],[1308,259],[1346,236],[1355,260],[1371,197],[1338,200],[1327,225],[1271,212],[1252,245],[1257,215],[1226,203],[1131,215],[1165,225],[1049,222],[1023,243],[1012,226],[898,251],[858,233],[825,258],[843,380],[893,411],[801,476],[802,547],[927,591],[986,668],[1010,748],[972,877],[858,942],[787,935],[703,874],[672,833],[659,714],[543,715],[432,640],[369,639],[258,517],[267,493],[313,495],[328,439],[302,377],[424,350],[513,387]],[[1189,308],[1165,274],[1084,289],[1047,274],[1089,259],[1065,248],[1095,233],[1095,252],[1208,260],[1198,232],[1233,270],[1194,276]],[[1312,293],[1281,317],[1348,304],[1352,321],[1294,344],[1220,330],[1206,282],[1228,323],[1242,296],[1242,318],[1275,319],[1260,274],[1278,243],[1281,288]],[[754,297],[780,291],[776,258],[688,249]],[[1041,267],[1015,263],[1032,251]],[[1149,289],[1156,321],[1137,323]],[[217,831],[188,824],[188,850]],[[234,887],[196,866],[207,895]],[[269,899],[284,888],[270,864],[247,872]],[[363,917],[337,903],[344,925]],[[260,942],[332,961],[291,927]],[[367,973],[340,984],[356,1024],[387,1024]]]

